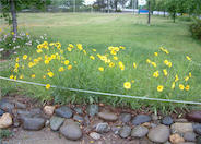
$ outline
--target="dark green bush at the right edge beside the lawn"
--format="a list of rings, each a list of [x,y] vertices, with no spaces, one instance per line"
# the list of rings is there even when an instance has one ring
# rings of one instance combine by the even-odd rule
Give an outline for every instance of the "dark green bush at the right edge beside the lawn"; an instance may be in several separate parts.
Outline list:
[[[193,38],[201,40],[201,20],[193,20],[193,23],[190,25],[190,33]]]

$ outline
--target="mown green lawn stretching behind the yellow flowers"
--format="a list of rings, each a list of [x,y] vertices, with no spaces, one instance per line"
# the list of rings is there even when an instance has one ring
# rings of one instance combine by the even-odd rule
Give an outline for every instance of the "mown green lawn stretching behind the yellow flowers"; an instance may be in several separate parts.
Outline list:
[[[86,49],[96,48],[98,52],[104,52],[108,46],[125,46],[126,57],[128,56],[130,59],[128,62],[131,63],[133,60],[140,61],[153,57],[153,53],[164,46],[170,51],[169,57],[174,59],[173,63],[179,65],[176,70],[178,72],[185,73],[186,71],[187,68],[180,64],[187,55],[194,62],[201,63],[201,41],[191,38],[188,31],[189,22],[173,23],[166,17],[152,16],[152,24],[147,26],[146,21],[146,15],[132,14],[19,14],[20,29],[37,36],[47,34],[54,40],[60,41],[64,48],[68,44],[82,44]],[[196,92],[189,93],[192,98],[186,98],[188,100],[201,100],[201,93],[197,92],[201,88],[200,73],[201,68],[194,65],[192,75]]]

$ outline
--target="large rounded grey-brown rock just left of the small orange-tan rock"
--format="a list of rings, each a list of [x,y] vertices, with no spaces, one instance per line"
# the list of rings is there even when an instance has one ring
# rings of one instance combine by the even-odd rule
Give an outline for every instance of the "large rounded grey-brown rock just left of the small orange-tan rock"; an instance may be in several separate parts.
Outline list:
[[[159,124],[150,130],[147,137],[155,143],[165,143],[169,137],[169,133],[168,127]]]

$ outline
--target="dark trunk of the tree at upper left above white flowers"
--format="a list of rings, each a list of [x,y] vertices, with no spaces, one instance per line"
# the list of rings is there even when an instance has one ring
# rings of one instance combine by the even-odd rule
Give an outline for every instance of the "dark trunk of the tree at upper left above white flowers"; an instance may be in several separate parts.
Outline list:
[[[13,25],[13,32],[14,32],[13,37],[15,38],[17,35],[16,9],[15,9],[14,0],[10,0],[10,3],[11,3],[12,25]]]

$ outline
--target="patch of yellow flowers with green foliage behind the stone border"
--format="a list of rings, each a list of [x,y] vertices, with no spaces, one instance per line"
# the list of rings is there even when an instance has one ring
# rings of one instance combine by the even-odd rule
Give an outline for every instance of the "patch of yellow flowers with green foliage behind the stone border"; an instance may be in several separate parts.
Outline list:
[[[105,53],[84,49],[81,44],[66,48],[60,43],[44,41],[36,55],[16,58],[10,79],[46,84],[46,87],[19,84],[21,88],[42,100],[56,103],[106,103],[133,108],[150,106],[169,108],[170,104],[139,101],[130,98],[70,92],[58,87],[98,91],[141,97],[200,100],[200,85],[193,77],[192,60],[179,58],[163,47],[147,59],[129,56],[125,47],[108,47]],[[175,105],[184,106],[184,105]]]

